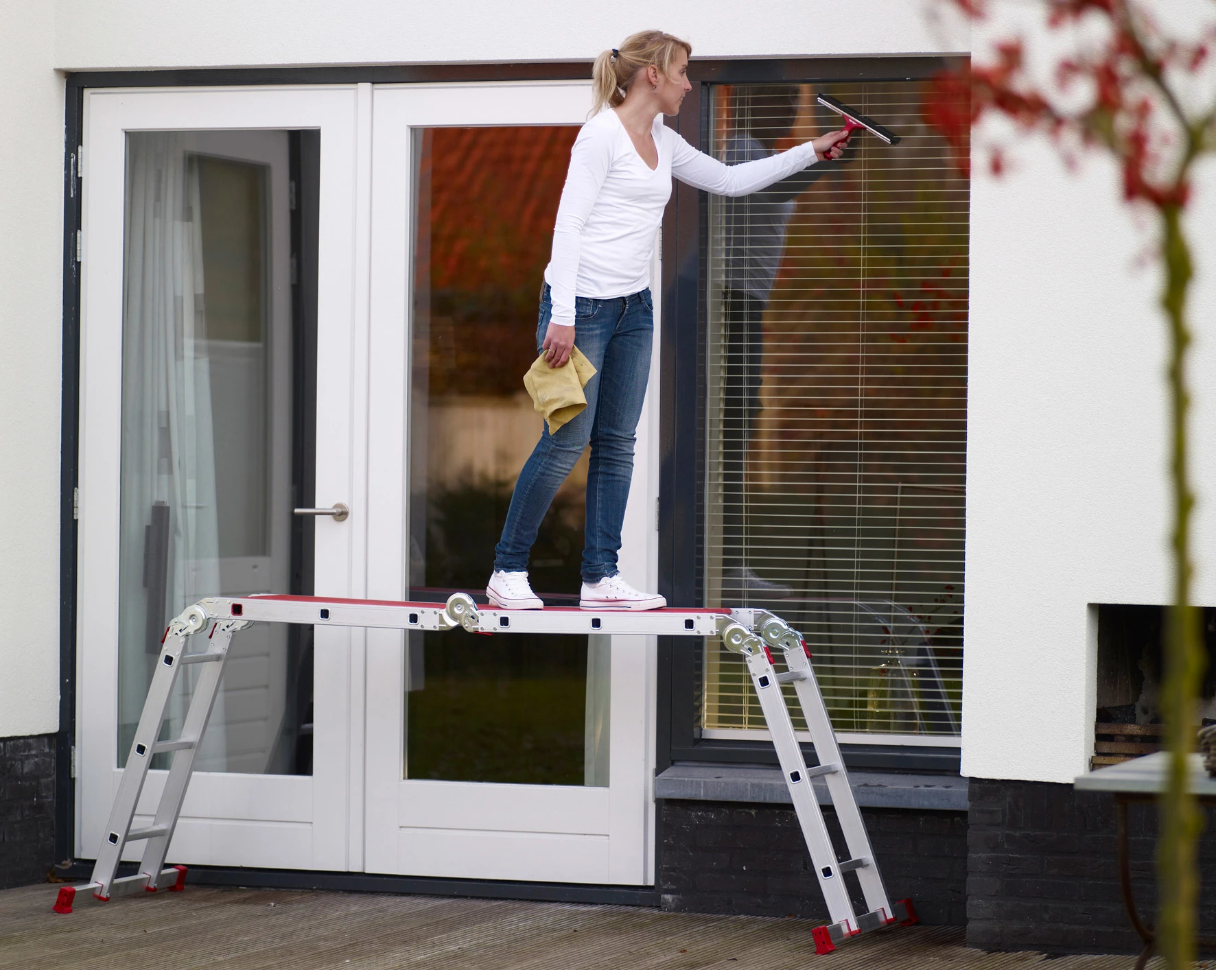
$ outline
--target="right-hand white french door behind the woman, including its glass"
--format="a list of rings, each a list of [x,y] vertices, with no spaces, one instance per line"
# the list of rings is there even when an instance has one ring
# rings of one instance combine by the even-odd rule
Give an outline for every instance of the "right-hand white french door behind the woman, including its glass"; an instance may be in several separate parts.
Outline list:
[[[530,402],[518,396],[518,385],[535,356],[535,292],[569,145],[589,107],[590,85],[582,83],[376,89],[370,388],[373,400],[406,406],[372,410],[372,598],[396,599],[406,590],[417,596],[428,588],[441,596],[444,590],[434,587],[456,585],[454,576],[482,587],[489,577],[496,534],[478,547],[484,556],[480,571],[475,563],[461,571],[460,551],[452,547],[465,535],[462,517],[475,515],[471,496],[484,496],[495,480],[513,480],[536,440],[540,425],[529,419]],[[553,165],[548,175],[537,168],[546,153]],[[495,177],[501,181],[494,184]],[[542,197],[533,198],[537,192]],[[486,209],[497,210],[499,219],[486,218]],[[484,229],[477,238],[465,238],[461,227],[472,220]],[[523,265],[518,253],[514,261],[505,261],[503,248],[533,246],[535,261],[525,260],[520,284],[522,300],[530,303],[500,342],[495,314],[507,310],[479,297],[480,283],[495,273],[510,277]],[[477,250],[475,258],[469,250]],[[449,270],[456,278],[445,275]],[[511,278],[499,287],[514,292]],[[469,304],[477,309],[469,310]],[[530,316],[523,318],[524,312]],[[472,357],[466,356],[469,348]],[[517,349],[519,362],[500,357]],[[422,388],[426,382],[429,389]],[[490,388],[501,393],[491,396]],[[621,570],[635,582],[653,585],[653,393],[646,408]],[[519,433],[520,427],[527,430]],[[401,487],[406,481],[410,486]],[[497,492],[499,518],[507,494]],[[570,502],[580,508],[581,495],[572,495]],[[491,518],[477,521],[480,541]],[[581,548],[581,535],[574,538],[570,562]],[[544,563],[537,546],[534,582]],[[449,579],[437,582],[437,575]],[[576,592],[576,582],[568,570],[563,591]],[[595,639],[557,647],[553,638],[520,644],[501,635],[452,631],[406,649],[401,633],[368,631],[368,870],[653,882],[655,645],[649,637]],[[415,653],[420,645],[424,662]],[[518,676],[501,666],[512,650],[531,654],[518,661]],[[570,658],[565,666],[554,662],[537,671],[530,662],[558,650]],[[461,659],[474,653],[473,662]],[[445,670],[455,672],[435,677]],[[421,690],[420,676],[426,677]],[[475,677],[484,677],[484,692],[466,689]],[[568,684],[573,693],[563,693]],[[529,727],[529,698],[552,714],[545,724]],[[556,721],[563,698],[574,715],[561,728]],[[508,714],[496,714],[500,704]],[[576,734],[572,745],[554,740],[562,731]],[[527,757],[520,748],[534,754]],[[533,763],[517,763],[520,755]],[[559,766],[565,763],[563,773]],[[510,778],[541,783],[503,780]]]

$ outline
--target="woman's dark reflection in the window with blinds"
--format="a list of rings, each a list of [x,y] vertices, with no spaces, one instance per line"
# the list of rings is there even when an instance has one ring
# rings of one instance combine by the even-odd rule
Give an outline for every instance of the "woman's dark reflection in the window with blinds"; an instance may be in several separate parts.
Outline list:
[[[764,85],[736,89],[732,123],[722,151],[728,165],[777,154],[798,114],[799,89]],[[844,142],[841,142],[841,146]],[[722,597],[782,599],[790,588],[758,576],[747,565],[745,463],[760,412],[764,312],[786,249],[786,229],[794,198],[826,171],[806,169],[722,205],[722,329],[725,394],[722,406]]]

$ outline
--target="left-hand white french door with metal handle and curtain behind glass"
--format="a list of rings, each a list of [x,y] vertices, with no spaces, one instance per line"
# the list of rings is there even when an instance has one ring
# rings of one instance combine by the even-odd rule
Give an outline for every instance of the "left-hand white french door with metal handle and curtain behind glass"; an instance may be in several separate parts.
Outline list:
[[[366,289],[358,267],[367,258],[360,132],[370,94],[86,95],[77,628],[84,858],[102,838],[156,630],[199,596],[285,590],[291,507],[300,504],[293,487],[353,509],[306,531],[310,548],[297,558],[309,563],[315,591],[362,592]],[[291,162],[293,139],[313,147],[303,174]],[[315,222],[304,231],[316,242],[300,265],[293,218],[309,173]],[[308,414],[293,418],[305,325],[325,366],[315,401],[297,408]],[[315,429],[321,455],[306,483],[291,480],[293,419]],[[351,729],[362,716],[360,635],[317,630],[302,658],[311,631],[291,643],[283,630],[248,632],[233,642],[170,856],[361,868],[361,824],[351,819],[361,823],[362,779],[350,769],[362,763],[362,732]],[[150,773],[139,814],[153,810],[164,776]]]

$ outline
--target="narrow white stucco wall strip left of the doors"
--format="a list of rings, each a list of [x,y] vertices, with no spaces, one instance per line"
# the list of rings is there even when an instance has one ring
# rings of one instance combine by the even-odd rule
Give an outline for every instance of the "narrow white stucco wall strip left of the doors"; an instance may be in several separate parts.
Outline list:
[[[58,727],[63,81],[50,5],[0,4],[0,738]]]

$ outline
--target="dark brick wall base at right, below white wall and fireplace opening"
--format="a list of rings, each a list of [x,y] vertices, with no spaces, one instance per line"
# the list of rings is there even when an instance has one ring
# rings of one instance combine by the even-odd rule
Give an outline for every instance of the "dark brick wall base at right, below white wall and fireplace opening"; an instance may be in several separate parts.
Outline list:
[[[1042,782],[970,779],[967,942],[985,949],[1135,953],[1119,887],[1110,795]],[[1156,810],[1128,808],[1132,878],[1154,919]],[[1201,932],[1216,936],[1216,811],[1200,850]]]

